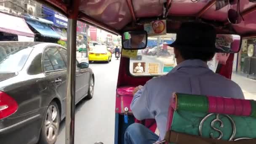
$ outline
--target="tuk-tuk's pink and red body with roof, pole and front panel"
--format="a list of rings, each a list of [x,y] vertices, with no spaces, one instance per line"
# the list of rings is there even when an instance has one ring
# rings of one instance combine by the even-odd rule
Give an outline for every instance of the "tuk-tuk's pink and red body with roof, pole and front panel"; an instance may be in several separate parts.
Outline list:
[[[68,93],[66,118],[66,144],[74,143],[74,74],[76,24],[80,20],[116,35],[124,32],[143,30],[143,25],[156,20],[166,20],[166,33],[176,33],[182,22],[197,21],[211,24],[217,34],[239,35],[242,40],[256,37],[255,0],[37,0],[60,11],[69,18],[68,29]],[[124,37],[124,36],[123,36]],[[149,39],[149,38],[147,38]],[[235,47],[232,45],[232,47]],[[226,52],[227,53],[227,52]],[[235,52],[234,52],[235,53]],[[219,63],[216,73],[231,79],[234,53],[229,53],[225,64]],[[154,58],[152,58],[154,59]],[[131,123],[143,123],[155,131],[155,120],[138,121],[130,110],[133,88],[144,85],[152,77],[163,75],[133,74],[133,62],[121,57],[116,94],[115,144],[123,144],[125,129]],[[143,59],[141,60],[143,61]],[[173,63],[175,65],[175,62]],[[73,84],[72,84],[73,83]],[[128,109],[125,109],[127,107]],[[128,115],[128,123],[124,115]],[[86,137],[86,136],[85,136]],[[256,138],[254,136],[253,138]],[[100,138],[99,138],[100,140]]]

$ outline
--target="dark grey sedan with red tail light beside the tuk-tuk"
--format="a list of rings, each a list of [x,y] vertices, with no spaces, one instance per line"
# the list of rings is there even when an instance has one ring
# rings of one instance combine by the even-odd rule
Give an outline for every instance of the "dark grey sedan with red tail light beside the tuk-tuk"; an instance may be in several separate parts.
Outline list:
[[[94,75],[76,61],[75,103],[93,96]],[[54,144],[65,117],[67,49],[0,42],[0,144]]]

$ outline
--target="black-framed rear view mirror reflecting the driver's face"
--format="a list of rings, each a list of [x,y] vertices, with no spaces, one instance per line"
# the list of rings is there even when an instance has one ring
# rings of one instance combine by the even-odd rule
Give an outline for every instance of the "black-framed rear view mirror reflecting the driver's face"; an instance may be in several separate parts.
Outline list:
[[[122,35],[122,48],[126,50],[139,50],[147,46],[147,32],[136,30],[124,32]]]

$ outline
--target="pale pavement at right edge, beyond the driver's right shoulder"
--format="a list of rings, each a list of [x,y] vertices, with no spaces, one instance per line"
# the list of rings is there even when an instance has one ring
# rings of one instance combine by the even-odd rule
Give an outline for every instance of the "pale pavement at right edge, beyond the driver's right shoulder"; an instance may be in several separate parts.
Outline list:
[[[256,100],[256,80],[235,73],[232,73],[232,80],[242,88],[245,99]]]

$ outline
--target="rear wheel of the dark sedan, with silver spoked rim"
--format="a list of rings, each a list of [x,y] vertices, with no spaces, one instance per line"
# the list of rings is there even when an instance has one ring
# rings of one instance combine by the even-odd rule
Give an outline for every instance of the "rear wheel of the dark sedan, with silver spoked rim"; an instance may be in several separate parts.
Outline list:
[[[52,101],[46,111],[43,127],[40,132],[39,144],[54,144],[59,134],[59,107]]]

